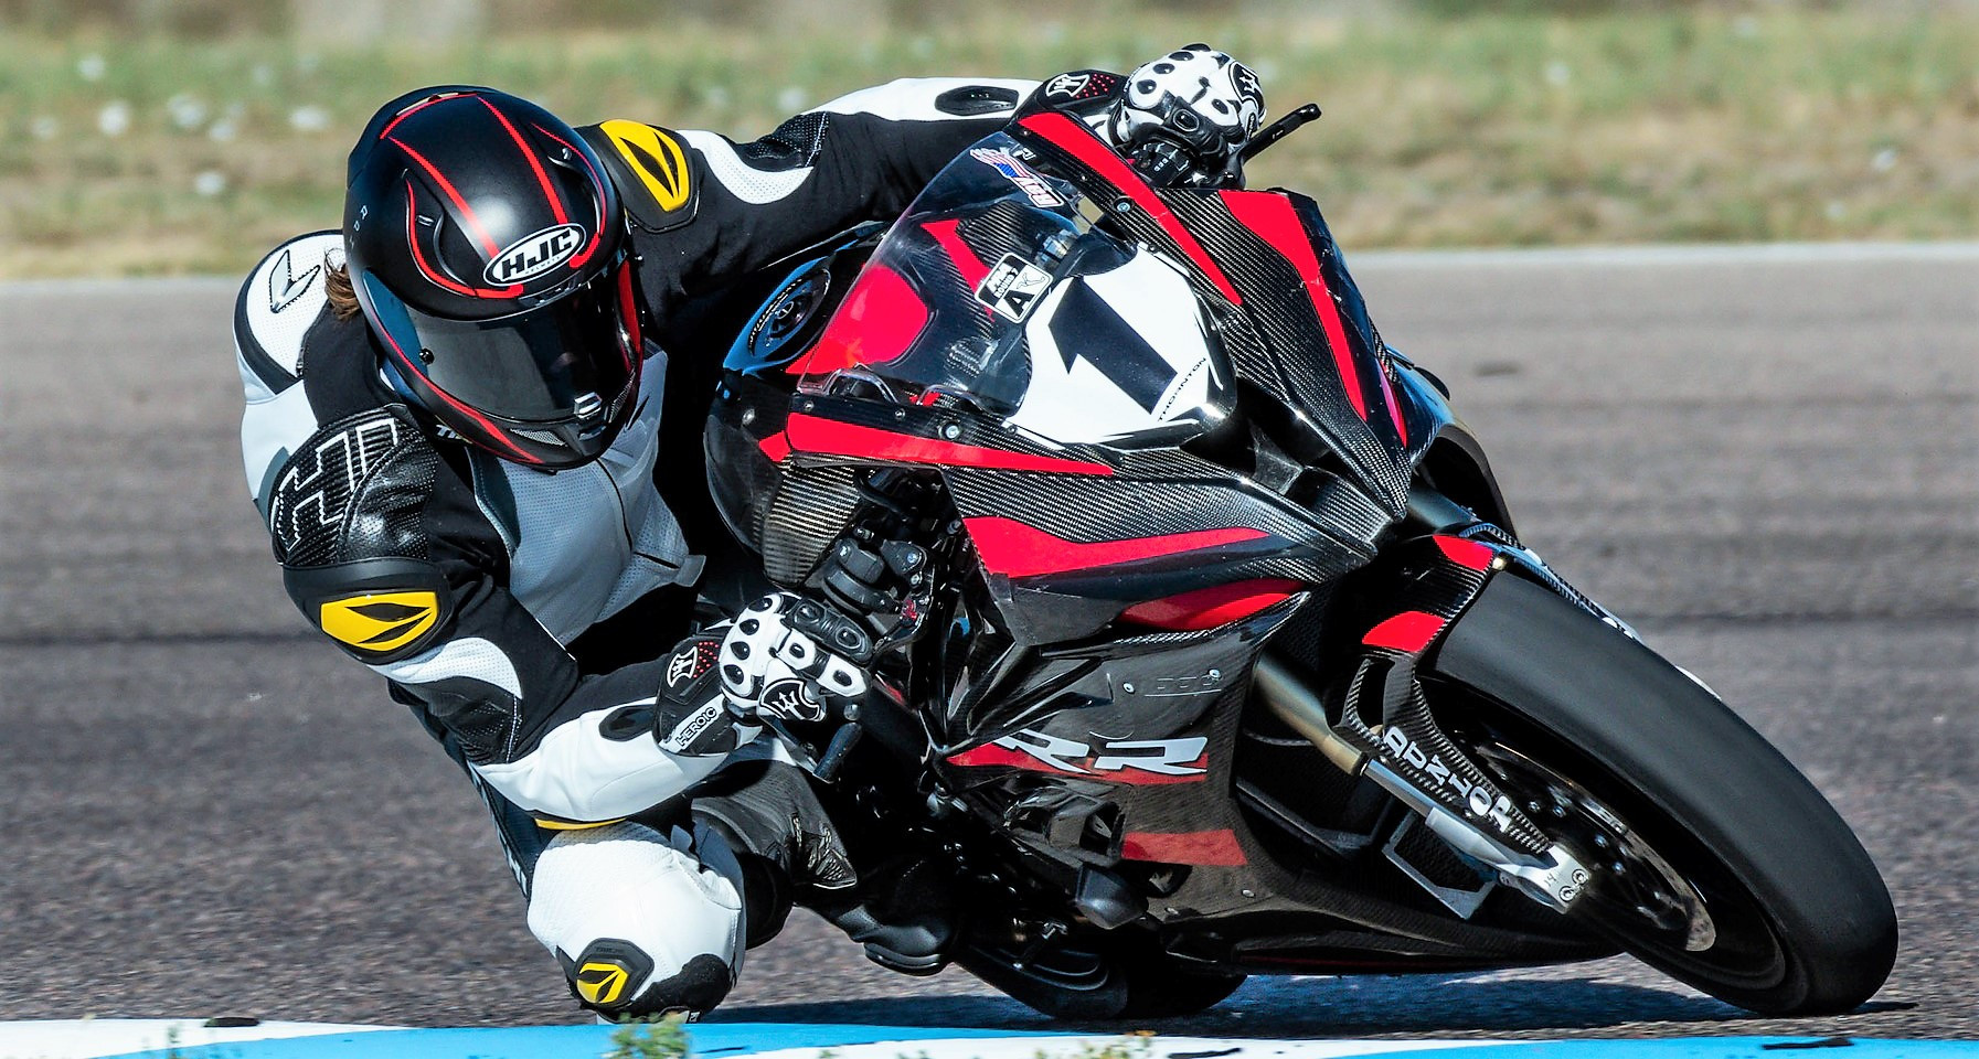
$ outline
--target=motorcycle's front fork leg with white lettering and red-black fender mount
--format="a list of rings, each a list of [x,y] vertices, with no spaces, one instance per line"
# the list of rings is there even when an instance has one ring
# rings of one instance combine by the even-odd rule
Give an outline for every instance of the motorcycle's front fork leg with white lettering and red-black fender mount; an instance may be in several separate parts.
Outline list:
[[[1423,657],[1484,584],[1524,560],[1514,542],[1476,536],[1437,532],[1391,552],[1393,610],[1360,637],[1354,675],[1326,701],[1269,657],[1259,659],[1255,687],[1330,762],[1393,794],[1512,889],[1565,913],[1583,893],[1587,869],[1443,732],[1417,679]]]

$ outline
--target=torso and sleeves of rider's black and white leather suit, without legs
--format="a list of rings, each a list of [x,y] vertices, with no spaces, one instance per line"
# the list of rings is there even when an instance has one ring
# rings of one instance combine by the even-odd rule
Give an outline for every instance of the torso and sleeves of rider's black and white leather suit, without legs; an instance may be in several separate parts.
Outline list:
[[[1029,81],[918,79],[853,93],[736,144],[712,133],[606,123],[655,317],[857,222],[887,220]],[[378,374],[362,319],[327,311],[340,236],[277,247],[236,309],[247,487],[291,596],[350,655],[390,679],[475,776],[546,821],[606,821],[661,804],[722,754],[675,754],[612,724],[651,707],[651,661],[596,671],[586,629],[699,560],[655,477],[701,475],[663,451],[665,352],[649,346],[631,424],[596,463],[542,473],[441,437]],[[364,604],[350,600],[362,598]]]

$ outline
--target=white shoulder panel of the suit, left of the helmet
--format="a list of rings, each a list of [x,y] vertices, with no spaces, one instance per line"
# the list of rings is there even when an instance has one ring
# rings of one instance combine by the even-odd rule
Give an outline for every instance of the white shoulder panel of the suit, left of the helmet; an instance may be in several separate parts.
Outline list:
[[[273,396],[303,378],[303,340],[329,305],[323,273],[344,263],[338,232],[311,232],[275,247],[247,273],[234,301],[241,384]]]

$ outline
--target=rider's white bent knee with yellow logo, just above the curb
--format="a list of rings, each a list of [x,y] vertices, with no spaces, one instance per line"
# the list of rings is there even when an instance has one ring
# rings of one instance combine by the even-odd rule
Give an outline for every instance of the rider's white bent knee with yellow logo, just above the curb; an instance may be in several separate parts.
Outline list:
[[[584,1008],[699,1015],[728,996],[742,962],[742,895],[728,851],[708,849],[718,843],[708,835],[701,843],[677,827],[612,823],[564,831],[542,851],[528,928]]]

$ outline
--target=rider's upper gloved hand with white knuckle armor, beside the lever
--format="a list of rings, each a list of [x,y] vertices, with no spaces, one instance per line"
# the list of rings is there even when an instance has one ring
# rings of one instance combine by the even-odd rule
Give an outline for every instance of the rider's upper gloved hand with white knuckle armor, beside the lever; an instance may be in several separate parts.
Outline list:
[[[1158,184],[1235,182],[1243,146],[1265,121],[1257,73],[1207,44],[1138,67],[1108,135]]]

